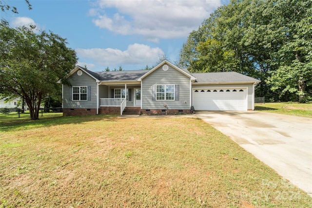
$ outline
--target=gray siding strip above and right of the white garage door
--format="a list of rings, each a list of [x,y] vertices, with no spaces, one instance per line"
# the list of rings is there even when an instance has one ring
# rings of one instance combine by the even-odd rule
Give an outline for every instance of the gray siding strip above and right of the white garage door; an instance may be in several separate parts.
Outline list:
[[[193,85],[193,88],[246,88],[247,87],[247,109],[253,110],[253,84],[214,84],[214,85]]]

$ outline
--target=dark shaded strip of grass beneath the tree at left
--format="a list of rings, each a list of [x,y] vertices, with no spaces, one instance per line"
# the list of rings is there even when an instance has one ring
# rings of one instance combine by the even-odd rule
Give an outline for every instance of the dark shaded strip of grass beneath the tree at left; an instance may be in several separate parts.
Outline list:
[[[80,115],[80,116],[66,116],[66,117],[51,117],[39,118],[38,120],[17,120],[17,121],[4,121],[0,123],[0,131],[8,132],[16,129],[31,129],[42,128],[50,126],[58,126],[64,124],[78,124],[88,121],[99,120],[116,120],[117,114],[98,114],[98,115]]]

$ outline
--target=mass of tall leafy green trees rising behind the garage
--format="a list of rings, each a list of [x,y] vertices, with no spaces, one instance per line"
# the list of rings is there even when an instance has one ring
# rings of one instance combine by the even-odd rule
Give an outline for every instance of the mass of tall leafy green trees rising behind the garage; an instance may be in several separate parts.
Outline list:
[[[236,71],[262,80],[257,96],[303,101],[311,86],[309,29],[311,1],[231,0],[190,33],[179,65],[191,72]]]

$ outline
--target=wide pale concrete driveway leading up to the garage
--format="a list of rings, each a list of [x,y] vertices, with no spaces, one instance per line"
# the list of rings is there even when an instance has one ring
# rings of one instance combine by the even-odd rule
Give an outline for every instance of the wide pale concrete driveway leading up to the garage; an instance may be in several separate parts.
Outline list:
[[[195,115],[312,196],[312,118],[254,111]]]

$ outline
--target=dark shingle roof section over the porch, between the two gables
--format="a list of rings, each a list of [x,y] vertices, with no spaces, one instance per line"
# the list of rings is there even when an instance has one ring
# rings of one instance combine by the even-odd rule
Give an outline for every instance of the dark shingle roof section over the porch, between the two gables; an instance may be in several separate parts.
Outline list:
[[[113,72],[96,72],[101,81],[136,81],[145,75],[149,70],[131,70],[131,71],[113,71]]]

